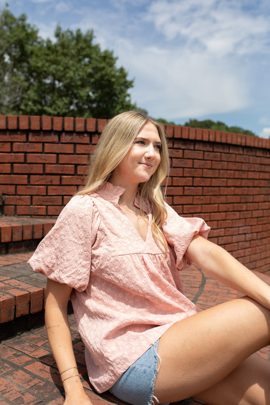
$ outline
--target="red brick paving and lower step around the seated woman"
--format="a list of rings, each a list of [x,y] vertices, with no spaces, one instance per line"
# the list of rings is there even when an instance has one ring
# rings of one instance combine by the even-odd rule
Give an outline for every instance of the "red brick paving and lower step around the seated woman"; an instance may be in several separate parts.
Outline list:
[[[0,403],[2,405],[64,403],[63,387],[51,355],[45,327],[26,330],[29,326],[35,326],[36,322],[43,322],[42,308],[46,285],[45,277],[34,273],[26,263],[31,254],[32,252],[23,252],[0,256],[0,316],[2,317],[0,329],[2,334],[7,334],[9,331],[15,335],[4,339],[0,344]],[[268,275],[256,274],[270,285]],[[205,277],[196,266],[183,271],[181,277],[187,296],[202,309],[240,296],[212,278]],[[77,331],[74,315],[70,315],[69,319],[74,353],[87,395],[94,404],[123,405],[123,402],[115,399],[108,392],[102,396],[97,395],[89,385],[84,362],[84,346]],[[259,354],[270,360],[269,347],[261,350]],[[180,403],[184,404],[184,402],[178,404]],[[196,404],[198,402],[190,405]]]

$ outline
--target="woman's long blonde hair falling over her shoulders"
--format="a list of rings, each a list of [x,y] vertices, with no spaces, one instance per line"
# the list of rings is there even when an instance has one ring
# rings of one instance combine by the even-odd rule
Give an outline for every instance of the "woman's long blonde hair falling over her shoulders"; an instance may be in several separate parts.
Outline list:
[[[167,252],[167,241],[160,229],[167,217],[161,184],[168,178],[170,164],[164,127],[153,118],[138,111],[126,111],[108,121],[91,156],[86,185],[76,195],[89,194],[110,179],[115,168],[128,153],[138,132],[147,122],[151,122],[157,128],[161,140],[160,163],[151,178],[139,184],[140,198],[149,201],[153,217],[151,223],[153,235]],[[142,213],[141,207],[140,210]]]

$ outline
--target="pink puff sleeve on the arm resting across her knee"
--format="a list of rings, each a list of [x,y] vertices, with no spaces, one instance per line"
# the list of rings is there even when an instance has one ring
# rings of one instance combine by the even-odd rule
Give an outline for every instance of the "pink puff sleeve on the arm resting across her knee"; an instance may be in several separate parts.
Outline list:
[[[183,270],[191,266],[192,262],[185,257],[185,252],[193,236],[199,234],[207,239],[210,227],[202,218],[180,217],[172,207],[166,205],[168,217],[162,225],[162,230],[169,245],[174,247],[176,254],[176,267]]]

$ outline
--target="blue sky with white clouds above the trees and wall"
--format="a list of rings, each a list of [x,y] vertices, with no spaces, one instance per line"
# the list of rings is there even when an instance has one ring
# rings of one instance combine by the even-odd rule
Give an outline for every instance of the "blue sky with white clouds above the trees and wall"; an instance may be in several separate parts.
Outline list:
[[[0,0],[0,8],[5,5]],[[8,0],[43,38],[94,30],[132,102],[155,118],[212,119],[270,136],[269,0]]]

